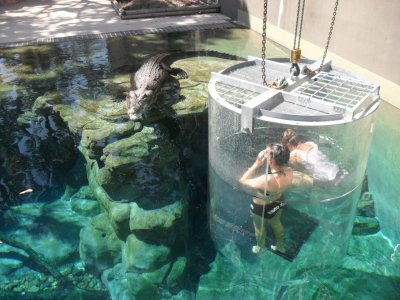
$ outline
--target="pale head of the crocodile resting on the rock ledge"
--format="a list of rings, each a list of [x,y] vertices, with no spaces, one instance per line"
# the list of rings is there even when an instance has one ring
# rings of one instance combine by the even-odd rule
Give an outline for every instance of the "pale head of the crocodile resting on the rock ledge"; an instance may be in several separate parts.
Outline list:
[[[130,91],[127,97],[128,115],[131,120],[143,119],[153,102],[154,91],[139,89]]]

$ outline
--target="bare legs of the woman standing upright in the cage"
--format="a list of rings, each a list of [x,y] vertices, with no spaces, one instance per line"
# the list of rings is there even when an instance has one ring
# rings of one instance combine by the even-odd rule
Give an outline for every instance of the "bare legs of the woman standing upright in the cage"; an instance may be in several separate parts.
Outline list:
[[[251,213],[257,246],[261,248],[265,247],[265,241],[267,237],[267,225],[270,225],[272,227],[272,230],[274,231],[276,246],[281,249],[284,248],[285,232],[281,223],[281,215],[282,209],[278,210],[276,215],[273,216],[271,219],[263,219],[259,215]]]

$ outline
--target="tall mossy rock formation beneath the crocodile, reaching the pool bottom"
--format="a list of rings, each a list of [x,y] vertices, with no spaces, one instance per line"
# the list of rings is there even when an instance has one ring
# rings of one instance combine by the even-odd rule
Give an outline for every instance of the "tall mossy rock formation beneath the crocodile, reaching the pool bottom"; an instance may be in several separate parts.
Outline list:
[[[175,67],[186,70],[189,79],[167,81],[160,106],[144,122],[130,121],[126,102],[115,101],[120,88],[111,90],[115,97],[82,97],[77,103],[66,100],[62,90],[47,93],[20,117],[24,124],[57,116],[77,141],[88,182],[69,196],[70,208],[86,220],[80,227],[79,256],[87,271],[101,275],[114,299],[190,294],[185,280],[190,195],[180,166],[190,147],[178,141],[196,128],[183,126],[181,120],[206,110],[210,73],[232,63],[177,61]],[[125,85],[129,74],[109,81]]]

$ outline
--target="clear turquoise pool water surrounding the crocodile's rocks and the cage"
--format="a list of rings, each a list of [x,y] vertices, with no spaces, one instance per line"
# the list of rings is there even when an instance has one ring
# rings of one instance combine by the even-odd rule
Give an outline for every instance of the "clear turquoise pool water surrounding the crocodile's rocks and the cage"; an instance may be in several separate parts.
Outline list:
[[[335,266],[317,253],[294,263],[240,257],[233,245],[224,256],[211,240],[207,83],[234,61],[176,61],[189,79],[166,83],[143,128],[127,121],[129,74],[151,55],[259,56],[260,46],[259,35],[235,29],[1,49],[1,298],[400,298],[399,168],[386,167],[400,161],[391,150],[398,110],[379,112],[367,172],[382,230],[353,236]],[[287,53],[267,47],[270,57]],[[274,266],[294,264],[295,281],[272,278]]]

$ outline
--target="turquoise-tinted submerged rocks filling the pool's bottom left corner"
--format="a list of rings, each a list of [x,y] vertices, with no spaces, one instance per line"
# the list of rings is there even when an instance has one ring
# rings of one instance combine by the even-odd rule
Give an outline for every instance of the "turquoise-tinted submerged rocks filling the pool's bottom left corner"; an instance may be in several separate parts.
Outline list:
[[[79,231],[99,211],[88,192],[84,186],[71,197],[25,203],[2,215],[1,299],[107,299],[101,282],[77,261]]]

